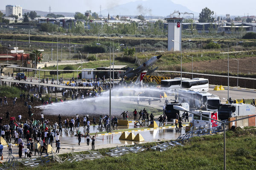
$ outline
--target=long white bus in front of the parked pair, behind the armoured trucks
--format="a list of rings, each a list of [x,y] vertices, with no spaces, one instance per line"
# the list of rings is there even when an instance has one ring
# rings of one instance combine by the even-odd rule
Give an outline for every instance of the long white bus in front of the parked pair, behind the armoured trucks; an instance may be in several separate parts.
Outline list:
[[[220,99],[217,95],[210,94],[206,91],[180,90],[178,92],[178,102],[187,102],[190,108],[218,111]]]

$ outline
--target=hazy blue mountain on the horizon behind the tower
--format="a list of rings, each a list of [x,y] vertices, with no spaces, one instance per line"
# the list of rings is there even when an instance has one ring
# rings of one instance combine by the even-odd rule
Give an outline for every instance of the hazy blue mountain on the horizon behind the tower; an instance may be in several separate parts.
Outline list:
[[[170,16],[175,11],[179,11],[180,17],[183,17],[183,13],[193,13],[195,16],[198,16],[199,13],[191,11],[186,6],[173,3],[171,0],[138,0],[130,3],[125,3],[119,6],[114,6],[102,10],[102,15],[107,16],[108,13],[110,16],[114,15],[140,15],[143,16]],[[178,16],[178,12],[172,15],[173,17]],[[187,16],[184,14],[184,16]]]

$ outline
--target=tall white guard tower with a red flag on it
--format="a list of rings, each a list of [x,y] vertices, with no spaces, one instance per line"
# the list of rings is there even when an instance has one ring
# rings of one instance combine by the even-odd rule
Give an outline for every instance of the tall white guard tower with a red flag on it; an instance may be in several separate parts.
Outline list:
[[[168,51],[180,51],[181,23],[183,18],[165,18],[165,20],[168,23]]]

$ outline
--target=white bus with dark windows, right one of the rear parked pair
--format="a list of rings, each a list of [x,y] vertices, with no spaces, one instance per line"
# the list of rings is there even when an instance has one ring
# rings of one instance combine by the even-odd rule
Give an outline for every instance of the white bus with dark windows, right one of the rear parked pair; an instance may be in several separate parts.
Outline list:
[[[182,81],[182,88],[192,91],[209,91],[208,79],[194,78]]]

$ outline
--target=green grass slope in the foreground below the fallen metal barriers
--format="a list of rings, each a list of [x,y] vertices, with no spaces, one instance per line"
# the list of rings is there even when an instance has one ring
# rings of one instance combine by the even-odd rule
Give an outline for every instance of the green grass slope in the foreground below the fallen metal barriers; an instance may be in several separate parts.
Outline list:
[[[256,169],[256,129],[226,133],[227,170]],[[157,143],[146,143],[153,146]],[[130,153],[119,158],[106,156],[111,148],[100,149],[104,159],[81,161],[79,163],[53,163],[38,167],[38,170],[221,170],[223,169],[223,135],[193,137],[184,147],[174,147],[164,152],[147,150],[142,153]],[[86,151],[81,153],[87,153]],[[66,157],[62,154],[61,157]]]

